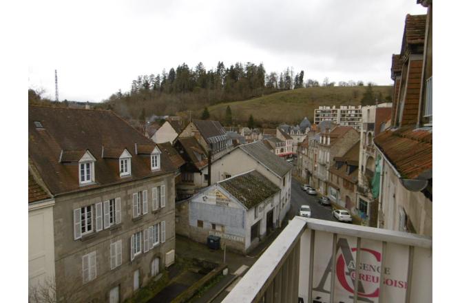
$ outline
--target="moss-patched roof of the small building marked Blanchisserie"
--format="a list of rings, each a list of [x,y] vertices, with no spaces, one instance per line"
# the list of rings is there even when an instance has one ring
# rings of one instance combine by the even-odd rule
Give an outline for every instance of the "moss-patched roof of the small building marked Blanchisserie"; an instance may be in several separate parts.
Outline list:
[[[256,170],[220,181],[218,185],[247,209],[255,207],[280,191],[279,187]]]

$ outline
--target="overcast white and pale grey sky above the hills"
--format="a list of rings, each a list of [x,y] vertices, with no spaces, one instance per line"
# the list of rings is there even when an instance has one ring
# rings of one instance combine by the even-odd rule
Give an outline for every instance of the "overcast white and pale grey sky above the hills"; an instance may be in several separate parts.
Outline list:
[[[250,3],[249,3],[250,2]],[[406,14],[416,0],[32,1],[28,83],[54,98],[102,101],[140,74],[185,62],[293,67],[322,83],[388,85]]]

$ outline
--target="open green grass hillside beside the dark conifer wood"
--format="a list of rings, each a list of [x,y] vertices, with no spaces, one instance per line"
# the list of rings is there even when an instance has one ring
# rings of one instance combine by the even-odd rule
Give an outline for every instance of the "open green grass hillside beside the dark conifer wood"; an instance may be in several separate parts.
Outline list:
[[[391,96],[392,88],[392,86],[374,86],[373,92],[379,100],[385,101],[388,96]],[[297,124],[304,116],[313,123],[315,108],[320,105],[359,105],[365,90],[365,86],[300,88],[247,101],[220,103],[208,108],[211,119],[222,122],[225,109],[230,105],[233,123],[241,125],[247,123],[250,114],[253,115],[256,123],[264,127],[280,123]]]

